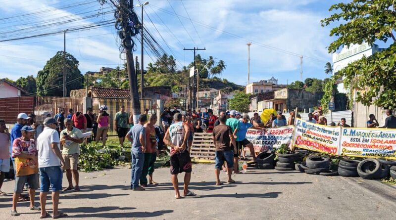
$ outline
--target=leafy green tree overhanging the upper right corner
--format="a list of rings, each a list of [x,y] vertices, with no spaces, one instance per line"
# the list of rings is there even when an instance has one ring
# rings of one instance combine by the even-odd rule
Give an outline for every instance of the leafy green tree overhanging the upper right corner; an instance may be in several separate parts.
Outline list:
[[[356,90],[356,100],[364,105],[396,109],[395,3],[395,0],[338,3],[330,7],[330,11],[336,12],[321,21],[323,27],[338,23],[330,32],[330,36],[338,38],[329,45],[329,52],[351,44],[393,41],[388,48],[349,63],[337,73],[338,77],[344,77],[346,88]]]

